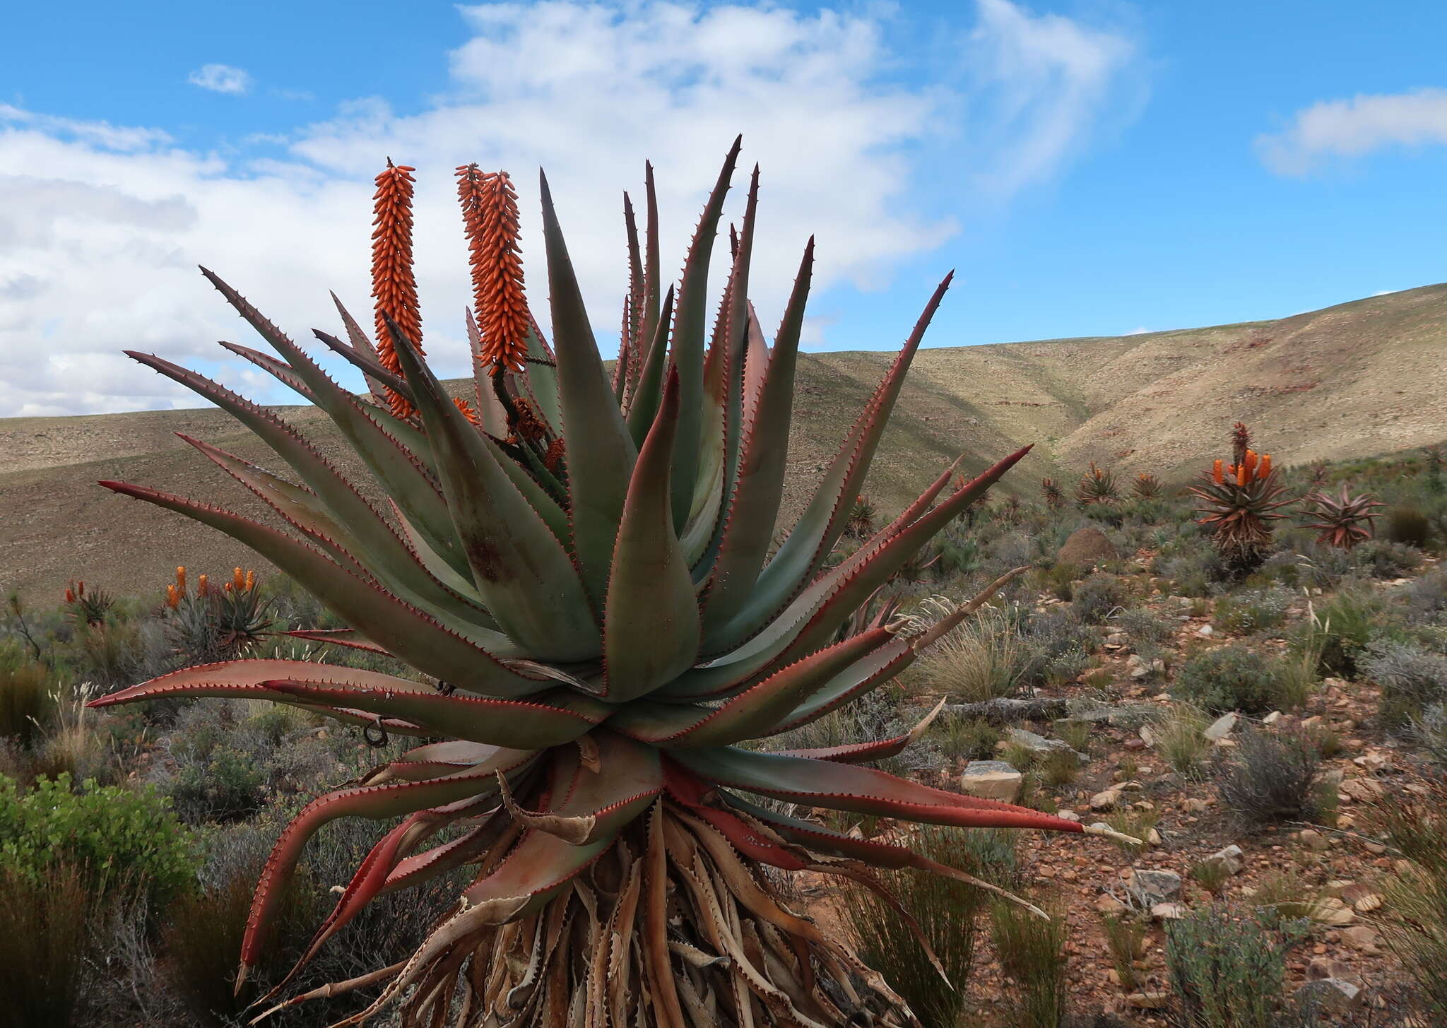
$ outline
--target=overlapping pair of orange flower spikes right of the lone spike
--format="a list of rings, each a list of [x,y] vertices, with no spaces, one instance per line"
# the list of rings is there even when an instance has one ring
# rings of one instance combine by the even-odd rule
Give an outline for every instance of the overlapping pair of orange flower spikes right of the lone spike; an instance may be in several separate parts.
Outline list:
[[[493,374],[522,371],[531,326],[518,248],[518,194],[508,172],[457,167],[457,201],[467,235],[473,307],[482,333],[479,361]]]

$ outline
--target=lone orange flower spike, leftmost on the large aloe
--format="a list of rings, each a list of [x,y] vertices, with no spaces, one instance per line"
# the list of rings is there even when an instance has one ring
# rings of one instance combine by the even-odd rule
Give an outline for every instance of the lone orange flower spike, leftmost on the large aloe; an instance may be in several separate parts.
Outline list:
[[[423,317],[417,300],[417,278],[412,274],[412,168],[394,165],[376,177],[372,224],[372,300],[376,314],[376,353],[388,371],[401,365],[392,349],[392,333],[386,319],[423,352]],[[404,397],[388,391],[388,404],[398,417],[411,417],[412,405]]]

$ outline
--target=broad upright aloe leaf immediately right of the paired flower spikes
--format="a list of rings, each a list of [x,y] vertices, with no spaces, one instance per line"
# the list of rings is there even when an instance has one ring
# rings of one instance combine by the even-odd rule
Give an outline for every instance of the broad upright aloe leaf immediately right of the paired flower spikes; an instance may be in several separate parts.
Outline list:
[[[559,353],[561,429],[567,437],[573,544],[587,592],[602,604],[614,540],[622,520],[624,497],[638,450],[598,356],[598,343],[593,342],[587,308],[583,306],[573,262],[567,256],[546,177],[541,178],[541,191],[553,346]]]

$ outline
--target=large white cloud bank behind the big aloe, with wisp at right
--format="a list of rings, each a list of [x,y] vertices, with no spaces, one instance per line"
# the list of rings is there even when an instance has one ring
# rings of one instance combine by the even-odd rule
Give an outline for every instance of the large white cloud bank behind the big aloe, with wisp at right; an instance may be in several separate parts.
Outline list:
[[[336,327],[328,288],[366,321],[370,175],[388,156],[418,168],[424,336],[444,374],[466,368],[460,314],[469,284],[451,178],[463,162],[514,174],[544,327],[537,168],[547,168],[605,347],[625,277],[622,190],[641,200],[642,159],[653,158],[664,262],[676,274],[739,130],[744,155],[725,220],[739,216],[758,161],[751,294],[764,323],[777,323],[810,233],[816,291],[878,287],[897,262],[958,232],[949,211],[925,214],[912,194],[916,161],[939,156],[929,148],[952,101],[938,83],[891,81],[886,72],[897,69],[899,55],[886,45],[887,14],[858,10],[865,13],[464,7],[472,38],[449,55],[447,94],[405,116],[383,98],[353,100],[330,120],[291,132],[281,158],[188,151],[156,129],[0,107],[0,416],[197,403],[117,353],[153,350],[195,365],[218,359],[217,339],[256,345],[197,264],[294,339],[310,337],[311,326]],[[972,45],[981,55],[1000,52],[988,71],[994,98],[971,106],[997,126],[990,152],[1001,182],[1004,168],[1020,168],[1010,185],[1017,188],[1068,161],[1129,45],[1003,0],[983,0],[980,12]],[[1013,77],[1022,78],[1017,90],[1007,88]],[[716,248],[716,268],[726,253]],[[831,324],[812,319],[810,345],[828,345]]]

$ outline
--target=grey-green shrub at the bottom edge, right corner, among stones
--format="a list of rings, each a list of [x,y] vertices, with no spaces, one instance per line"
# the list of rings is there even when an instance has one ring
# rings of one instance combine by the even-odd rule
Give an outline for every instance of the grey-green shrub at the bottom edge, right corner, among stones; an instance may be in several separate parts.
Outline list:
[[[1286,953],[1307,925],[1208,906],[1166,922],[1166,967],[1189,1028],[1276,1028]]]

